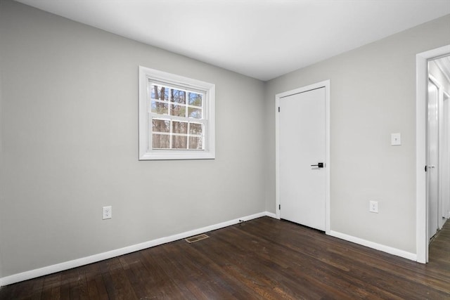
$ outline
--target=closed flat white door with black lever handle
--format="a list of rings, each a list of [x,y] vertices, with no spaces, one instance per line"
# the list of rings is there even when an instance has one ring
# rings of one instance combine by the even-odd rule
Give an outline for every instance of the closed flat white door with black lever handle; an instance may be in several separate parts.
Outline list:
[[[279,107],[280,217],[326,230],[325,87],[280,98]]]

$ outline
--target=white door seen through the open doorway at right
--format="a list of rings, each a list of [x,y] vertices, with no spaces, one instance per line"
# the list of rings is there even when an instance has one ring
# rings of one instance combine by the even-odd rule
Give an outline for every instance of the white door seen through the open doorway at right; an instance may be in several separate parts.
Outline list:
[[[427,188],[428,188],[428,236],[433,237],[438,223],[439,207],[439,118],[438,118],[439,93],[437,86],[428,81],[428,129],[427,129]]]

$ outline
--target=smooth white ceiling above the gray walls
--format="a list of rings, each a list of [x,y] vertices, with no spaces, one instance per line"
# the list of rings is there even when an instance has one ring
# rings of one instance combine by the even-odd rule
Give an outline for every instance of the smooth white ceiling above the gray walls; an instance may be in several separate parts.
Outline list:
[[[16,1],[262,80],[450,13],[450,0]]]

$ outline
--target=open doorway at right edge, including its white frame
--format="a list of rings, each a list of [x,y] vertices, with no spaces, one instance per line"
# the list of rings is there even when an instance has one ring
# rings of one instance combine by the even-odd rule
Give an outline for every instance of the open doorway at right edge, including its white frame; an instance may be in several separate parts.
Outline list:
[[[445,86],[450,86],[450,70],[449,74],[445,70],[449,55],[450,45],[446,45],[416,56],[416,252],[420,263],[428,262],[430,237],[439,226],[442,228],[446,209],[444,187],[450,185],[444,167],[449,159],[445,155],[449,152],[448,138],[444,138],[449,132],[444,130],[444,107],[448,107],[448,100],[444,100],[448,93],[444,91]],[[440,58],[445,58],[443,63],[438,62]]]

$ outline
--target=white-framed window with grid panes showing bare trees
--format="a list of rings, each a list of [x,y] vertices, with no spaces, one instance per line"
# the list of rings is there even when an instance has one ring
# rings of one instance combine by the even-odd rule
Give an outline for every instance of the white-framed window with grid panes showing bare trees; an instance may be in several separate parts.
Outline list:
[[[139,159],[213,159],[214,84],[139,67]]]

